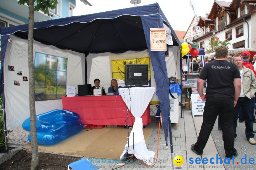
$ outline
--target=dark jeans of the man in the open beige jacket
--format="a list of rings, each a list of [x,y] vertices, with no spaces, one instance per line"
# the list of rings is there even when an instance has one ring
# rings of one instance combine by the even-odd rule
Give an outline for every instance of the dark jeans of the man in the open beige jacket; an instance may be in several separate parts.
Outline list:
[[[248,97],[239,97],[238,101],[235,106],[235,115],[234,115],[234,137],[237,136],[236,134],[236,126],[237,126],[237,119],[240,107],[242,108],[242,113],[244,115],[245,120],[245,136],[247,139],[254,137],[252,133],[253,125],[251,119],[251,100]]]

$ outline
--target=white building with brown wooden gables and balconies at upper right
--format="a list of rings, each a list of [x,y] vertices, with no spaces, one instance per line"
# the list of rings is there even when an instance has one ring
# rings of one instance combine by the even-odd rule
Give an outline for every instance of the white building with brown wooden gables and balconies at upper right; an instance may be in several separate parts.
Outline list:
[[[256,0],[214,1],[207,17],[200,17],[197,26],[203,34],[193,40],[209,51],[209,41],[227,40],[229,49],[254,48],[256,51]],[[252,52],[254,53],[254,52]]]

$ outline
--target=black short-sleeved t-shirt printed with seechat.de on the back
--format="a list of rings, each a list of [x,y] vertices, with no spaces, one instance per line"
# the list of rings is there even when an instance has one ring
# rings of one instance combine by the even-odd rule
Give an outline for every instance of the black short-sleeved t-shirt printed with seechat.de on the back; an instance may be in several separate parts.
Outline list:
[[[207,80],[206,97],[234,97],[234,78],[240,78],[238,67],[226,60],[206,63],[199,75]]]

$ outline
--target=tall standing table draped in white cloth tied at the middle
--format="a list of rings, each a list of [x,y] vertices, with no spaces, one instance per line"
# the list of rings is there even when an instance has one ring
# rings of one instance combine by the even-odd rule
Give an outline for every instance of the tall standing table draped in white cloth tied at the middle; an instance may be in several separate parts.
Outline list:
[[[148,151],[148,148],[146,147],[142,131],[142,118],[140,117],[148,107],[154,92],[155,87],[130,87],[119,89],[119,95],[122,96],[126,106],[135,117],[133,129],[120,159],[122,159],[123,155],[128,152],[128,154],[134,153],[134,156],[137,159],[143,160],[146,164],[152,164],[155,152]]]

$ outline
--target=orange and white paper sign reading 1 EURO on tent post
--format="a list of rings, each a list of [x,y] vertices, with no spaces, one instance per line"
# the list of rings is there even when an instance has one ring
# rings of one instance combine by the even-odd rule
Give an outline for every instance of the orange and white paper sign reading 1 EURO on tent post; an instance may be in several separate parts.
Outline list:
[[[151,51],[166,51],[166,32],[164,28],[150,28]]]

